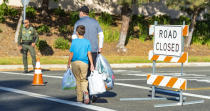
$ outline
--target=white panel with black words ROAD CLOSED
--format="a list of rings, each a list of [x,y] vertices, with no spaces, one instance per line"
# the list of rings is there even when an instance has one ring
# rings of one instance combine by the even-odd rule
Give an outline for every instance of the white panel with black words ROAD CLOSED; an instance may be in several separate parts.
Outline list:
[[[181,56],[182,26],[155,26],[154,54]]]

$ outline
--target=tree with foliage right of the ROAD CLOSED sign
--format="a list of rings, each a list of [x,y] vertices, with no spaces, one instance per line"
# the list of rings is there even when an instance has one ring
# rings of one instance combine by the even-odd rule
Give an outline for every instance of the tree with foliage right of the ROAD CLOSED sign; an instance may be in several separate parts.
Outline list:
[[[186,40],[186,47],[190,46],[192,35],[195,30],[198,15],[210,6],[209,0],[167,0],[167,5],[171,8],[180,9],[191,17],[189,36]]]

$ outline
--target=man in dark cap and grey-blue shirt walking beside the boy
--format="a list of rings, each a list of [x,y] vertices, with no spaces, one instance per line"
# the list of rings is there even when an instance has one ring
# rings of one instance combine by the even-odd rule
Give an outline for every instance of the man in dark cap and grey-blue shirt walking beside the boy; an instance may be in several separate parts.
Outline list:
[[[79,9],[79,17],[80,19],[75,23],[74,25],[74,33],[72,35],[72,39],[77,38],[76,35],[76,27],[78,25],[84,25],[85,26],[85,35],[84,38],[88,39],[91,44],[91,54],[93,57],[93,64],[94,67],[96,66],[96,58],[98,53],[102,51],[103,48],[103,41],[104,41],[104,34],[103,31],[99,25],[99,23],[88,16],[89,14],[89,8],[87,6],[83,6]],[[90,67],[90,65],[89,65]],[[90,68],[88,68],[90,69]],[[90,76],[91,71],[88,70],[87,77]],[[95,101],[95,96],[93,96],[92,102]]]

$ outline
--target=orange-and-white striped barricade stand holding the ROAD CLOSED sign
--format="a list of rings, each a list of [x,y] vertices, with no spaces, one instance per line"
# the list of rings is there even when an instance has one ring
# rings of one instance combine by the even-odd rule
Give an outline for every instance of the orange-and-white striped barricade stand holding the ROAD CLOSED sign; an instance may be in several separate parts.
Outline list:
[[[164,36],[162,36],[164,30]],[[172,32],[175,32],[174,39],[172,37]],[[159,32],[159,33],[158,33]],[[166,33],[165,33],[166,32]],[[167,35],[167,32],[169,33]],[[177,36],[179,34],[179,36]],[[121,101],[128,101],[128,100],[166,100],[169,98],[164,97],[156,97],[156,93],[162,93],[167,94],[170,96],[176,96],[176,100],[179,100],[178,103],[170,103],[170,104],[158,104],[154,105],[154,107],[166,107],[166,106],[182,106],[182,105],[188,105],[188,104],[196,104],[196,103],[203,103],[204,100],[197,100],[197,101],[189,101],[184,102],[183,101],[183,90],[187,90],[187,80],[183,78],[177,78],[177,77],[169,77],[169,76],[162,76],[162,75],[156,75],[156,61],[163,61],[163,62],[174,62],[174,63],[181,63],[181,76],[183,75],[183,64],[188,62],[188,53],[183,52],[184,50],[184,36],[188,36],[189,34],[189,27],[188,25],[159,25],[157,26],[157,22],[155,22],[155,25],[151,25],[149,27],[149,35],[154,35],[154,41],[156,42],[163,42],[163,43],[169,43],[172,41],[174,44],[180,45],[178,48],[178,51],[176,53],[174,52],[167,52],[168,50],[160,50],[154,47],[155,50],[149,51],[149,60],[153,61],[152,66],[152,74],[147,75],[147,84],[152,85],[152,94],[150,98],[120,98]],[[179,40],[179,42],[176,42],[176,40]],[[154,43],[156,43],[154,42]],[[154,45],[156,46],[156,45]],[[154,53],[156,51],[156,54]],[[161,51],[165,51],[164,53]],[[173,50],[169,50],[173,51]],[[161,87],[161,88],[157,88]],[[163,89],[164,88],[164,89]],[[178,91],[173,91],[171,89],[176,89]],[[171,99],[171,98],[170,98]],[[173,98],[174,99],[174,98]]]

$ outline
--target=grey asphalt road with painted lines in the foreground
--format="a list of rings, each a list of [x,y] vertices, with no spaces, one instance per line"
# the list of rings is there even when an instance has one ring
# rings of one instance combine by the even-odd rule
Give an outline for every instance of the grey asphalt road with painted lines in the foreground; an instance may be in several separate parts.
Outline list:
[[[65,71],[42,71],[46,86],[31,86],[33,73],[0,72],[0,111],[209,111],[210,67],[157,68],[156,74],[185,78],[185,102],[204,100],[204,103],[155,108],[157,104],[177,103],[176,100],[120,101],[120,98],[149,98],[150,85],[146,75],[152,68],[114,69],[115,87],[99,95],[96,103],[85,105],[75,102],[75,90],[62,90]],[[157,94],[161,97],[169,97]]]

